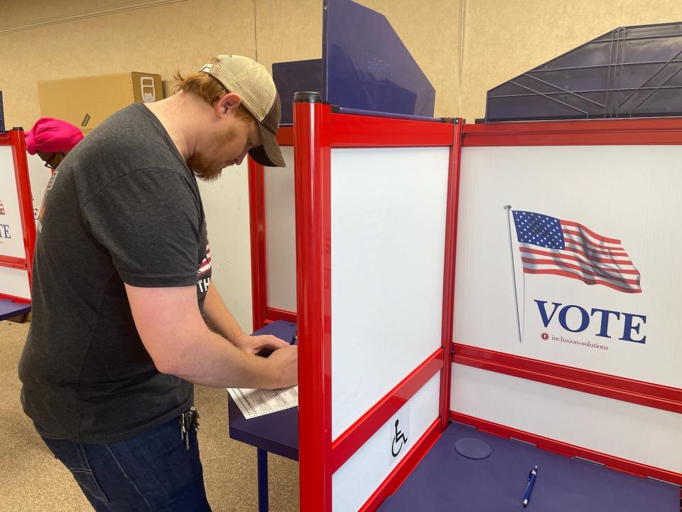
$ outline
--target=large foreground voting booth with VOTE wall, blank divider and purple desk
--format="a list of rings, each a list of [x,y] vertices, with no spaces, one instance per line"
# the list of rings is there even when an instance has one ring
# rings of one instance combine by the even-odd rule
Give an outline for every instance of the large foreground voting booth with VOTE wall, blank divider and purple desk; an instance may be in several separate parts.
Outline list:
[[[323,78],[352,61],[330,26]],[[529,509],[677,511],[680,119],[471,125],[330,90],[296,95],[286,169],[249,162],[254,329],[298,324],[301,511],[520,509],[538,459]]]

